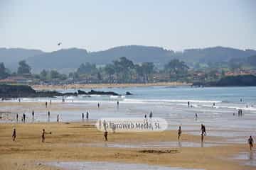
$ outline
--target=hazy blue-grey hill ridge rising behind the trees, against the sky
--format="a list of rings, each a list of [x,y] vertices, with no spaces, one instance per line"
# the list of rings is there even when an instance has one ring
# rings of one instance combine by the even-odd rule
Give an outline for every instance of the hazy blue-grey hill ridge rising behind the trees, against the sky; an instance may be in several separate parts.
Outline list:
[[[7,67],[14,69],[17,67],[18,61],[26,59],[33,68],[33,72],[39,72],[42,69],[58,69],[62,72],[70,72],[70,70],[77,69],[81,63],[107,64],[119,57],[127,57],[135,63],[154,62],[157,66],[163,66],[174,58],[193,64],[196,62],[227,62],[233,58],[243,59],[252,55],[256,55],[255,50],[239,50],[230,47],[188,49],[183,52],[142,45],[113,47],[98,52],[87,52],[87,50],[78,48],[54,52],[0,48],[0,62],[4,62]]]

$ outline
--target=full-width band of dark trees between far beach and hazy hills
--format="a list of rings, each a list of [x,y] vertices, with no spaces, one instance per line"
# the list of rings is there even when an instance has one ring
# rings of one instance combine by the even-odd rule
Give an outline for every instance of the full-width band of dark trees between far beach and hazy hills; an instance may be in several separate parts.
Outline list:
[[[208,63],[208,66],[196,64],[191,69],[178,59],[170,60],[159,69],[153,62],[134,63],[126,57],[120,57],[110,64],[99,67],[89,62],[80,64],[80,67],[69,74],[62,74],[57,70],[43,69],[40,74],[31,74],[31,67],[22,60],[18,62],[17,72],[11,72],[0,63],[0,79],[9,76],[31,74],[38,81],[84,81],[85,83],[147,83],[154,81],[193,81],[193,72],[203,72],[202,81],[218,79],[225,76],[225,72],[235,71],[241,67],[255,65],[256,56],[247,57],[247,60],[230,60],[228,63]],[[188,72],[189,71],[189,72]],[[220,76],[218,76],[220,75]]]

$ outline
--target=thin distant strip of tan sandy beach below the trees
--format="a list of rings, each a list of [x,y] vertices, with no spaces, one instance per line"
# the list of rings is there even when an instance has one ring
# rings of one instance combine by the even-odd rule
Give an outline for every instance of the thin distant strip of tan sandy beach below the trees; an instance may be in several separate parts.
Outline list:
[[[192,84],[181,82],[159,82],[147,84],[67,84],[67,85],[32,85],[36,90],[53,89],[102,89],[102,88],[125,88],[125,87],[146,87],[146,86],[191,86]]]

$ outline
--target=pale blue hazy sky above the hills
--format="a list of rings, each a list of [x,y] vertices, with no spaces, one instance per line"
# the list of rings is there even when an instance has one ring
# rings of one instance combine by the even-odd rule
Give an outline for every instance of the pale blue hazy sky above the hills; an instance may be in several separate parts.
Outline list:
[[[0,0],[0,47],[256,49],[256,1]]]

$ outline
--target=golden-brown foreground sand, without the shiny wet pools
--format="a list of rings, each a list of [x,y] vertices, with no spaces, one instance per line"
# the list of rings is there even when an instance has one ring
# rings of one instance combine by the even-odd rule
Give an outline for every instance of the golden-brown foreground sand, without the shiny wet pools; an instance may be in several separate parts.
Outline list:
[[[17,131],[16,142],[11,141],[13,128]],[[47,132],[52,132],[52,135],[46,135],[46,143],[41,142],[43,128]],[[0,169],[60,169],[46,165],[47,162],[122,162],[187,169],[255,169],[253,166],[245,166],[231,159],[240,152],[248,152],[247,145],[165,149],[90,147],[92,143],[107,144],[103,138],[102,132],[89,122],[2,123],[0,124]],[[137,142],[175,142],[176,138],[176,131],[171,130],[109,134],[109,142],[128,145]],[[200,142],[200,136],[184,134],[181,141]],[[222,139],[206,137],[206,141],[221,142]]]

